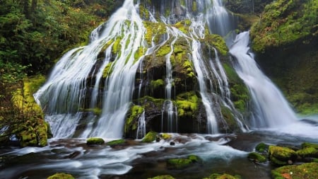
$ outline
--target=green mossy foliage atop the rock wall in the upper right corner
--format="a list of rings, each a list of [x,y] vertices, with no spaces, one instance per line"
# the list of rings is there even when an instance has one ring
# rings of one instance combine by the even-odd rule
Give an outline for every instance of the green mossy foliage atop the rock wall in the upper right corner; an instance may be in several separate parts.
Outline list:
[[[278,0],[266,6],[251,29],[254,52],[317,35],[318,1]]]

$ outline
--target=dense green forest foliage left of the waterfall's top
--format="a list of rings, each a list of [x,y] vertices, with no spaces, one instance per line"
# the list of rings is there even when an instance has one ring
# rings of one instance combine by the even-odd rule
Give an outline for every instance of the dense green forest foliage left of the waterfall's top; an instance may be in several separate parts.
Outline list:
[[[8,0],[0,8],[0,64],[28,66],[28,74],[47,73],[65,49],[88,41],[93,28],[119,6],[119,1]],[[34,3],[36,2],[36,3]],[[97,16],[97,9],[107,13]],[[95,15],[94,15],[95,14]]]

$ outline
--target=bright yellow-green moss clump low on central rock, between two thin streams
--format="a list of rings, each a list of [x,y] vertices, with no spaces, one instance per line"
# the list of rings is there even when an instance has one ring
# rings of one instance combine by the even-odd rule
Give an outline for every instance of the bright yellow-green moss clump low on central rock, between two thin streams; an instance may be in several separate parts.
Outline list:
[[[182,93],[177,96],[177,112],[179,117],[192,117],[198,110],[199,98],[192,92]]]

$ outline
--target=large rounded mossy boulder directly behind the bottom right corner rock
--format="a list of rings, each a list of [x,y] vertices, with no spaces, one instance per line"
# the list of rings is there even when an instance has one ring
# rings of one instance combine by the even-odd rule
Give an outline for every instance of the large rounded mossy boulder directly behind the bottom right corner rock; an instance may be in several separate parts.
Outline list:
[[[269,146],[269,160],[275,165],[288,165],[297,158],[297,153],[292,149],[283,146]]]

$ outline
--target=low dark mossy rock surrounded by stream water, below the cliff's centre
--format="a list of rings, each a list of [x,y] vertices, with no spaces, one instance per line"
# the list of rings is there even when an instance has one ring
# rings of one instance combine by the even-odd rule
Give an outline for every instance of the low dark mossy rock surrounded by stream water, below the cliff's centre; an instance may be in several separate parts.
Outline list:
[[[183,169],[201,161],[199,156],[189,155],[187,158],[170,158],[167,160],[168,169]]]

